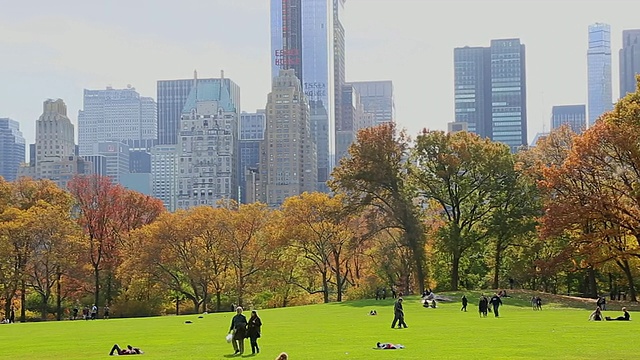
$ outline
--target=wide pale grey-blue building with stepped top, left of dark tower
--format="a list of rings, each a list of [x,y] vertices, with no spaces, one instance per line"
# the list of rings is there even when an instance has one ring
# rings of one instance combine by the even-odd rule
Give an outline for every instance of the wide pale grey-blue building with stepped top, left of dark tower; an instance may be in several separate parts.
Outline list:
[[[130,148],[150,149],[158,138],[156,102],[135,88],[84,90],[78,112],[80,156],[94,155],[96,143],[117,141]]]

